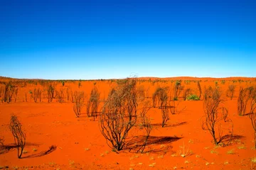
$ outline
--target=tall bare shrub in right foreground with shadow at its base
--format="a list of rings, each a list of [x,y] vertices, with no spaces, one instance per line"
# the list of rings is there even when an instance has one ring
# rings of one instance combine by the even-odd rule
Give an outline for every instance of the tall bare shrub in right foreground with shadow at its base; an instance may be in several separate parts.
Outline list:
[[[229,145],[233,136],[233,123],[232,120],[228,121],[229,124],[225,124],[223,116],[221,116],[221,104],[223,100],[221,98],[221,92],[218,87],[214,89],[209,86],[205,91],[203,100],[203,116],[202,128],[208,130],[213,137],[215,145],[219,145],[220,142],[224,145]],[[225,118],[226,119],[226,118]],[[228,127],[228,135],[223,135],[223,126]],[[217,137],[218,135],[218,137]]]

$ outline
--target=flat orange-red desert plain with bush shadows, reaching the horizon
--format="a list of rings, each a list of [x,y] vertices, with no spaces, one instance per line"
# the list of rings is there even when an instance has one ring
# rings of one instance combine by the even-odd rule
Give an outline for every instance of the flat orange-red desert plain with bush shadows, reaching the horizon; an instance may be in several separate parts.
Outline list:
[[[0,150],[0,169],[255,169],[255,130],[249,118],[250,104],[247,104],[245,114],[238,114],[240,88],[255,87],[255,78],[132,79],[136,79],[136,89],[142,94],[138,99],[138,107],[144,101],[148,101],[150,106],[146,115],[150,119],[151,132],[143,152],[136,147],[144,142],[139,118],[138,124],[129,131],[127,146],[120,151],[114,151],[107,145],[100,130],[100,114],[105,101],[111,89],[122,80],[53,81],[1,77],[0,137],[3,145]],[[9,82],[18,90],[11,102],[5,102],[4,89]],[[169,101],[174,100],[177,82],[178,96],[174,105],[170,106],[172,112],[169,111],[169,118],[162,128],[161,107],[157,104],[153,107],[152,96],[156,89],[165,88]],[[49,84],[55,90],[51,102],[48,102],[46,90]],[[230,85],[235,87],[232,99],[227,92]],[[208,86],[219,89],[220,106],[228,111],[227,122],[220,124],[223,128],[220,137],[227,138],[218,146],[214,144],[210,132],[202,128],[202,119],[206,114],[203,96]],[[41,90],[41,99],[37,98],[36,101],[33,96],[35,89]],[[87,101],[92,89],[97,89],[100,94],[96,118],[87,114]],[[188,96],[184,96],[186,89],[189,89],[188,96],[201,94],[201,97],[188,100]],[[75,103],[72,102],[70,91],[84,93],[84,105],[79,118],[73,111]],[[61,100],[58,98],[60,93],[63,95]],[[18,146],[9,128],[11,115],[17,116],[26,134],[21,159],[17,157]]]

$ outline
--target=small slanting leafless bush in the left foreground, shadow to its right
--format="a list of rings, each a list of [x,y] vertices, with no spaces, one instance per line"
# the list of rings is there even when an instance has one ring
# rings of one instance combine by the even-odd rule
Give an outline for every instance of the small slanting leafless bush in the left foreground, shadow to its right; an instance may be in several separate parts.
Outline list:
[[[21,123],[19,122],[16,115],[11,115],[11,121],[9,128],[12,135],[14,136],[14,142],[18,149],[18,159],[21,159],[23,149],[26,145],[26,135],[21,128]]]

